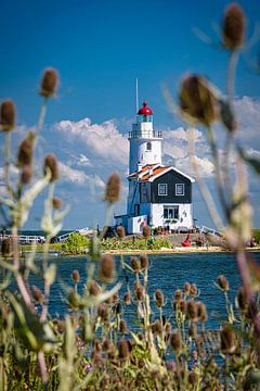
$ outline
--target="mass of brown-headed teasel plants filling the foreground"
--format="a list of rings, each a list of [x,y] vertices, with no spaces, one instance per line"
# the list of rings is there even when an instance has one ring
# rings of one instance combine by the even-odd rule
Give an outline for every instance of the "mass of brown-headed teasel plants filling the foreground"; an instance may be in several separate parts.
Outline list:
[[[225,238],[236,255],[243,282],[236,299],[238,311],[234,313],[234,306],[229,301],[229,281],[223,275],[218,278],[218,287],[223,291],[226,303],[226,318],[220,330],[207,329],[207,308],[199,301],[197,287],[188,282],[174,292],[172,314],[166,318],[165,295],[159,286],[154,297],[150,294],[150,264],[145,255],[132,257],[130,263],[121,256],[126,283],[116,283],[114,258],[102,255],[101,242],[95,237],[89,243],[89,268],[83,292],[78,291],[80,276],[74,270],[72,286],[64,287],[67,314],[64,318],[50,316],[50,287],[56,278],[56,267],[49,263],[48,252],[51,238],[61,229],[66,210],[61,210],[61,201],[54,197],[58,179],[55,156],[46,156],[43,176],[38,180],[32,180],[32,157],[47,102],[55,92],[56,72],[48,70],[43,75],[40,88],[43,103],[38,127],[21,142],[14,163],[10,157],[10,137],[15,126],[15,110],[12,101],[2,102],[0,124],[5,139],[6,194],[0,199],[0,213],[5,218],[5,228],[11,227],[13,237],[11,241],[4,238],[1,243],[1,390],[259,389],[260,272],[245,252],[245,243],[251,236],[251,209],[245,186],[244,162],[257,173],[260,172],[260,162],[249,157],[234,141],[237,125],[232,108],[234,64],[244,42],[244,25],[243,10],[237,4],[230,5],[222,29],[222,46],[231,53],[227,99],[197,75],[186,76],[180,89],[181,113],[188,122],[204,125],[208,136],[225,216]],[[167,91],[166,98],[171,103]],[[224,172],[212,128],[217,121],[226,131],[225,153],[222,155]],[[231,150],[237,162],[234,188],[231,188],[229,169]],[[11,179],[14,165],[18,168],[16,181]],[[197,171],[196,162],[194,169]],[[210,204],[212,219],[219,227],[220,216],[198,172],[197,179],[207,204]],[[48,197],[41,228],[47,243],[43,262],[39,265],[35,263],[34,254],[21,258],[15,238],[28,218],[35,198],[44,188]],[[120,179],[113,174],[105,192],[108,215],[119,198],[119,190]],[[150,228],[144,227],[143,234],[147,243]],[[123,235],[121,229],[121,238]],[[132,283],[129,273],[133,275]],[[42,280],[42,290],[29,286],[30,274]],[[9,287],[11,279],[16,282],[16,292]],[[127,324],[129,317],[132,320]]]

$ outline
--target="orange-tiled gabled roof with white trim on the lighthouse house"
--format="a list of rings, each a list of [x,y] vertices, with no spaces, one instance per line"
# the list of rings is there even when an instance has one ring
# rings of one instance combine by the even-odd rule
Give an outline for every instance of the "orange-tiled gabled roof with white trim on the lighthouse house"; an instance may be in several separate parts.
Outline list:
[[[132,173],[129,175],[128,178],[136,178],[139,181],[154,181],[156,178],[160,177],[162,174],[166,174],[170,171],[174,171],[176,173],[184,176],[191,182],[194,182],[195,179],[190,177],[188,175],[184,174],[180,169],[173,166],[164,166],[161,164],[146,164],[142,167],[139,173]]]

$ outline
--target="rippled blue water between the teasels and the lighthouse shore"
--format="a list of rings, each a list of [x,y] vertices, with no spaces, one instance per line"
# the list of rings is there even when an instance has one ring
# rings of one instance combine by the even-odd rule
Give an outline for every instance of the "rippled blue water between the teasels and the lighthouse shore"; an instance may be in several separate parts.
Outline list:
[[[253,254],[255,258],[260,262],[260,253]],[[120,297],[126,292],[125,275],[120,269],[119,256],[115,256],[117,263],[117,280],[123,282],[120,289]],[[125,256],[125,260],[130,262],[130,256]],[[57,280],[51,288],[50,313],[51,315],[63,316],[67,311],[67,304],[64,300],[64,283],[72,286],[70,274],[74,269],[80,273],[80,282],[78,285],[79,293],[82,292],[83,285],[87,278],[88,261],[86,256],[61,256],[52,258],[57,265]],[[156,289],[161,289],[166,305],[164,313],[169,317],[172,313],[172,301],[176,289],[181,289],[185,281],[196,283],[199,289],[199,300],[207,305],[209,320],[207,328],[217,329],[220,323],[226,318],[225,302],[223,293],[213,285],[219,275],[225,275],[230,282],[229,298],[234,302],[236,292],[240,286],[240,278],[237,272],[234,255],[231,253],[193,253],[193,254],[160,254],[150,255],[151,266],[148,269],[148,293],[151,298]],[[127,272],[129,276],[130,286],[133,283],[133,276]],[[36,278],[31,278],[31,283],[38,283]],[[38,283],[39,285],[39,283]],[[113,285],[109,285],[113,287]],[[152,299],[153,302],[153,299]],[[153,304],[154,318],[158,315],[158,311]],[[133,307],[126,310],[132,313]]]

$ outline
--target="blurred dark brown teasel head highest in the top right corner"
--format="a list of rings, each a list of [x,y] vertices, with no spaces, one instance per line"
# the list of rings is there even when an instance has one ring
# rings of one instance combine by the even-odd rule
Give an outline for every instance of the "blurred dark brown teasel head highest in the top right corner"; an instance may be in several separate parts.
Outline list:
[[[243,46],[245,35],[245,14],[237,3],[227,7],[223,21],[223,45],[230,50],[236,50]]]

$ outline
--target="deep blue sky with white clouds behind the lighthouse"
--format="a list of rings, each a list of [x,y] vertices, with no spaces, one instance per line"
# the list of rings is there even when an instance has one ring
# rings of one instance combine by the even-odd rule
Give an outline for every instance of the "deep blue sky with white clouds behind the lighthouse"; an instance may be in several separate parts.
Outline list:
[[[37,122],[40,106],[37,89],[42,71],[52,66],[60,73],[60,88],[56,99],[49,104],[38,161],[40,164],[42,155],[51,151],[61,162],[63,176],[56,192],[64,203],[70,204],[66,228],[102,224],[104,182],[114,171],[126,176],[126,134],[135,114],[135,77],[139,77],[140,103],[144,99],[148,101],[155,114],[155,127],[165,130],[165,162],[188,173],[183,133],[186,125],[169,113],[161,85],[167,84],[177,96],[182,75],[196,72],[225,93],[227,53],[218,45],[203,42],[194,28],[218,43],[218,26],[227,3],[224,0],[10,0],[1,4],[0,99],[15,101],[20,137]],[[238,3],[247,15],[247,37],[251,37],[260,21],[260,3],[257,0]],[[247,137],[242,133],[240,140],[255,154],[260,149],[256,139],[260,78],[250,65],[259,49],[258,41],[240,56],[236,83],[238,116],[248,130]],[[210,156],[202,129],[197,143],[205,177],[213,192]],[[118,212],[125,209],[126,186],[125,181]],[[255,178],[250,186],[255,225],[259,226],[259,188]],[[212,225],[196,189],[194,207],[199,224]],[[41,199],[36,203],[28,228],[39,225],[40,209]]]

